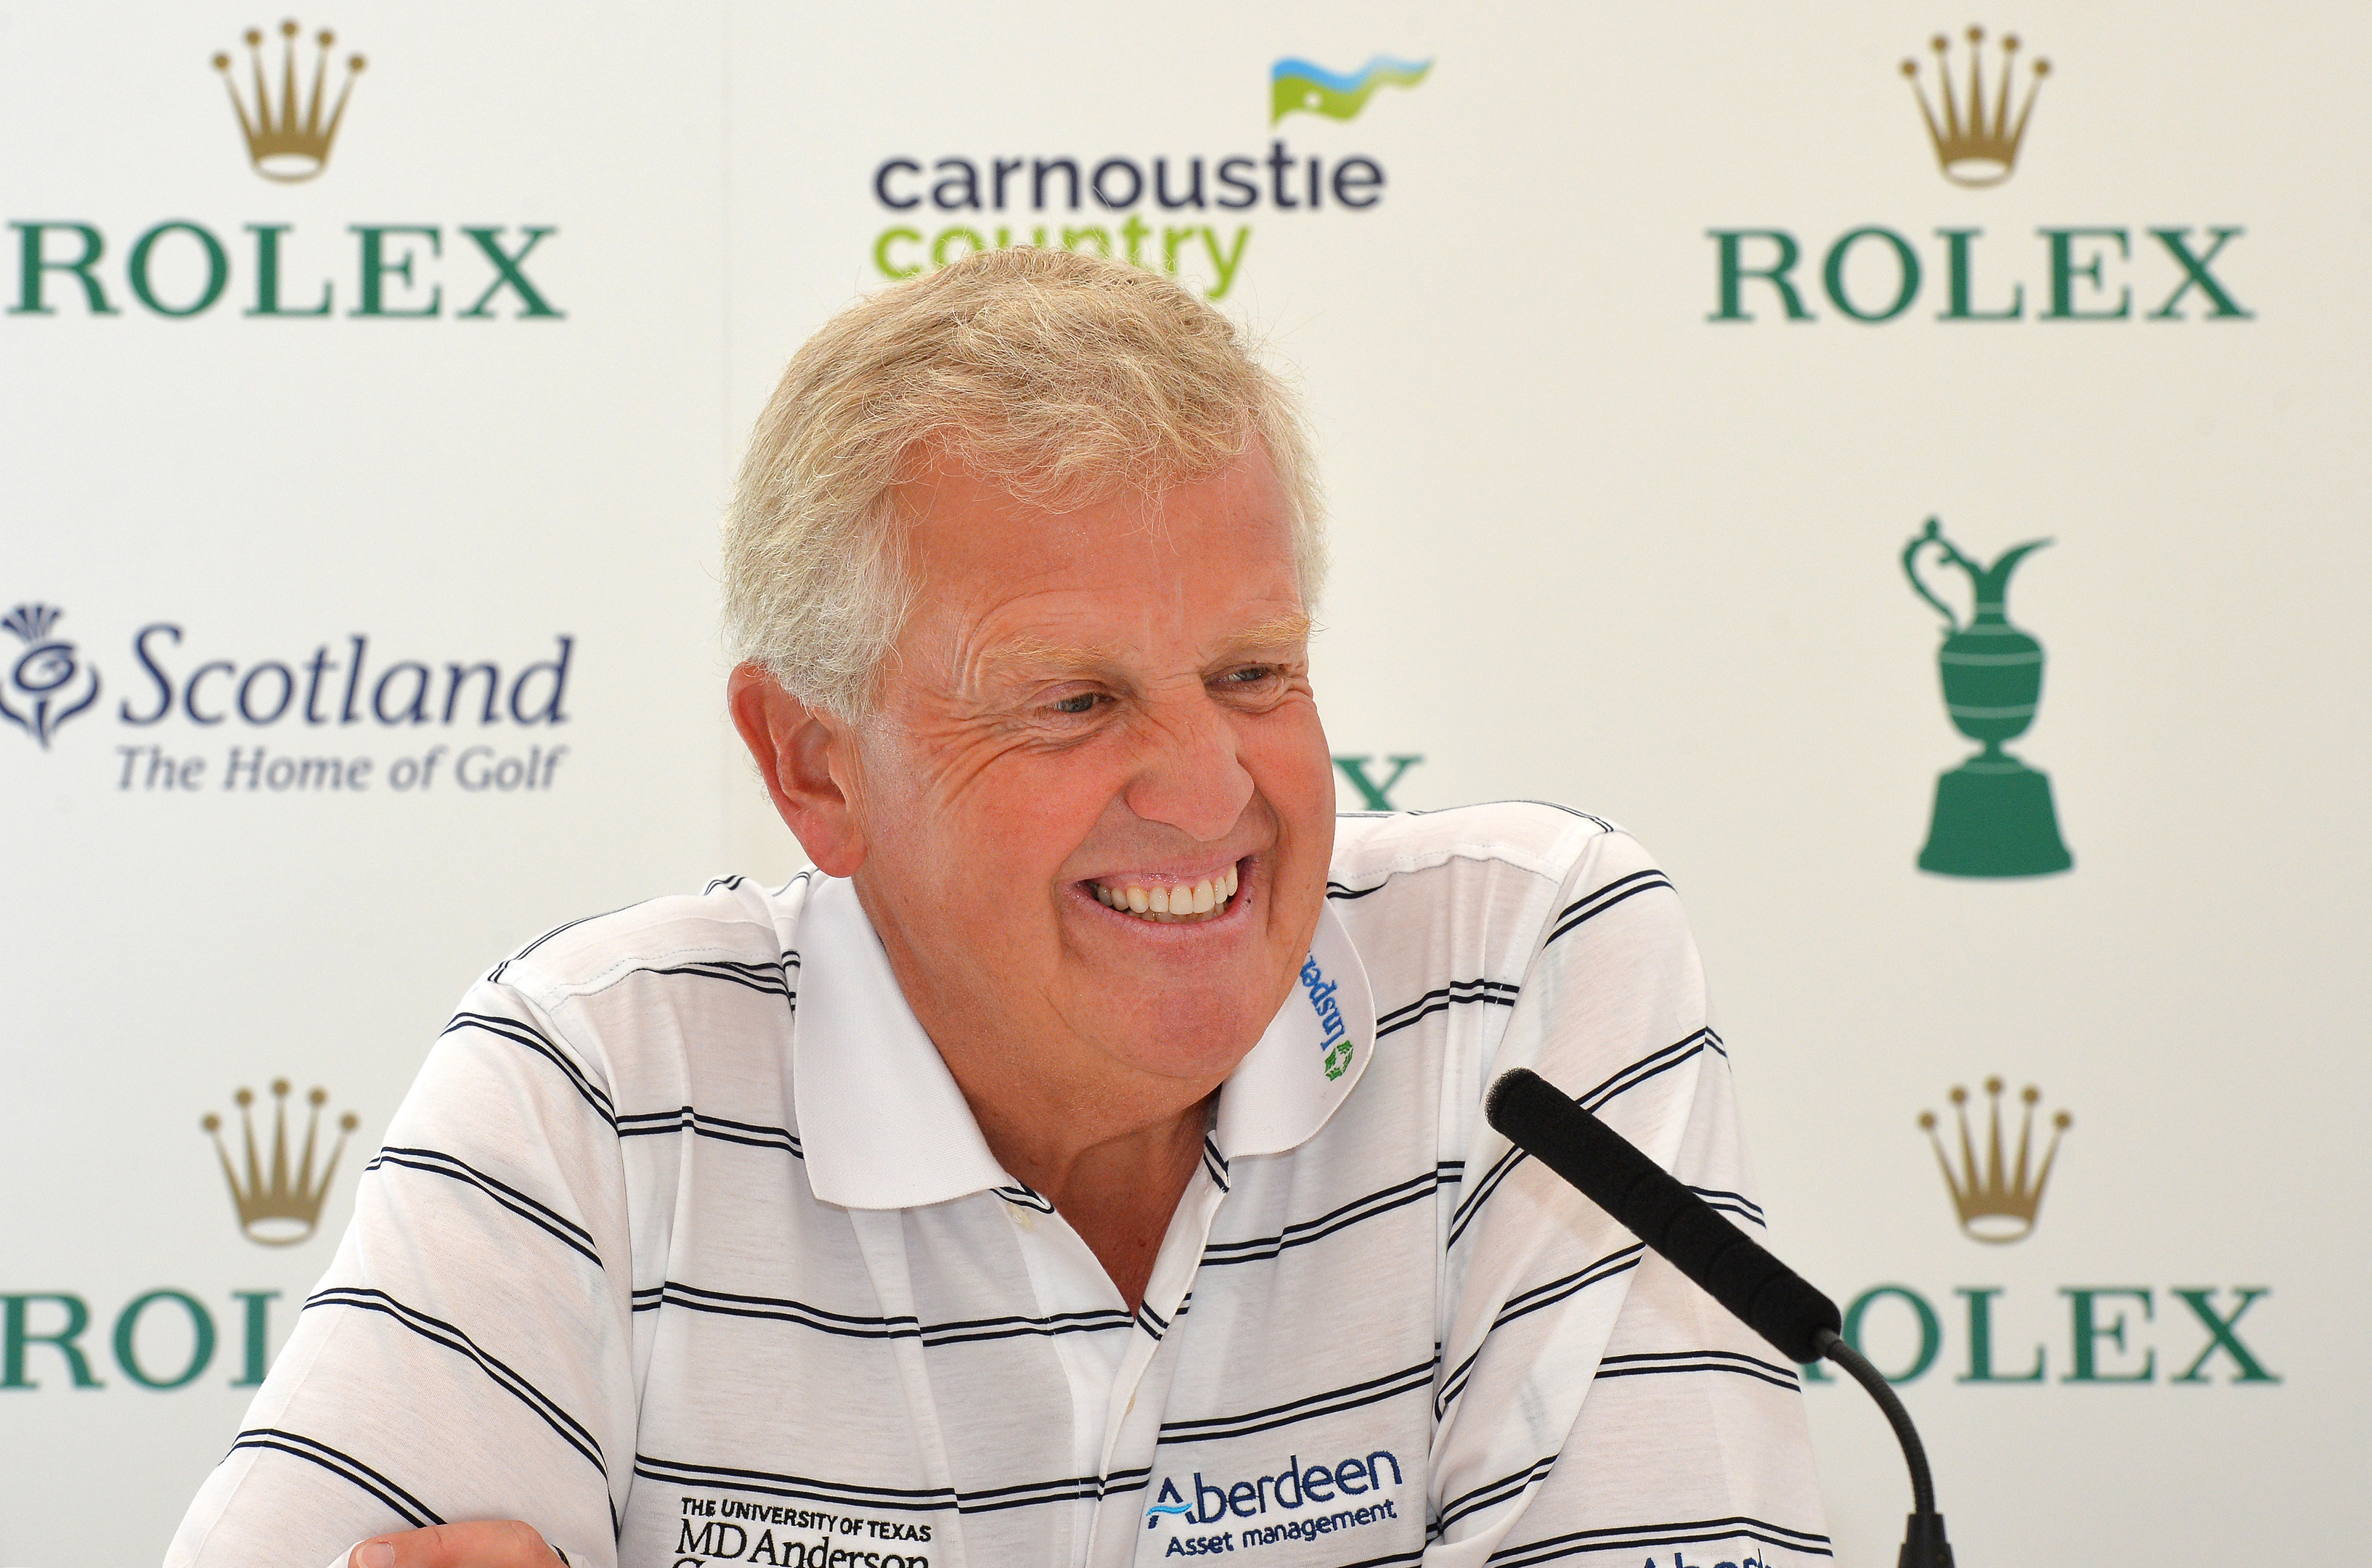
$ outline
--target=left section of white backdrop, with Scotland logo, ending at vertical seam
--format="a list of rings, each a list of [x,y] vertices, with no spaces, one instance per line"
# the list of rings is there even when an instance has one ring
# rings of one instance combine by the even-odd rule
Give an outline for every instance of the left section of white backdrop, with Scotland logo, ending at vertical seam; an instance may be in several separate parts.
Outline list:
[[[36,719],[0,726],[12,1568],[164,1551],[472,973],[721,861],[719,19],[301,21],[299,100],[323,24],[330,104],[365,66],[296,183],[259,176],[211,64],[251,111],[261,26],[280,107],[278,12],[0,21],[0,610],[62,612],[0,631]],[[95,235],[95,297],[26,282],[33,225],[43,261]],[[534,301],[486,297],[472,230]],[[292,1215],[242,1226],[204,1115],[249,1210]]]

